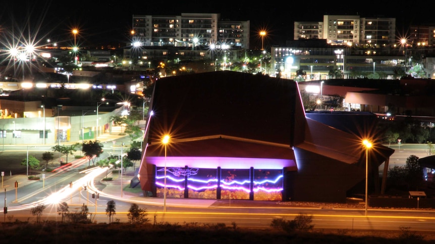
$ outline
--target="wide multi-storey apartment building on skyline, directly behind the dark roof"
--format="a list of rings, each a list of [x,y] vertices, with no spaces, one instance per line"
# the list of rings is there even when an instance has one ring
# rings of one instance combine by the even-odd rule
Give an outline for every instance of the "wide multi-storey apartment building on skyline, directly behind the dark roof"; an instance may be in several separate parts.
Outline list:
[[[221,21],[220,14],[133,15],[133,42],[141,46],[249,47],[249,21]]]

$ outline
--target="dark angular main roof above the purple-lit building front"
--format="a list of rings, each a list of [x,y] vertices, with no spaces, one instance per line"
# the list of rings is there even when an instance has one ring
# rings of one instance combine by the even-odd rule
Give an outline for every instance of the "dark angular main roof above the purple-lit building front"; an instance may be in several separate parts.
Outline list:
[[[177,140],[226,135],[290,145],[295,100],[297,85],[288,79],[232,71],[162,78],[150,104],[148,143],[169,133]]]

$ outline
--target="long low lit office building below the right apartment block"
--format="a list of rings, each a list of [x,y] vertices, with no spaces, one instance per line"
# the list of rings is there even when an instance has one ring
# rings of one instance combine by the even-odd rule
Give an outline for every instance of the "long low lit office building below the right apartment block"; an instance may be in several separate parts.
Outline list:
[[[352,47],[273,47],[271,68],[285,78],[295,78],[302,70],[307,80],[328,79],[334,70],[340,71],[344,78],[357,78],[367,73],[377,73],[385,78],[406,70],[405,56],[396,55],[356,55]]]

